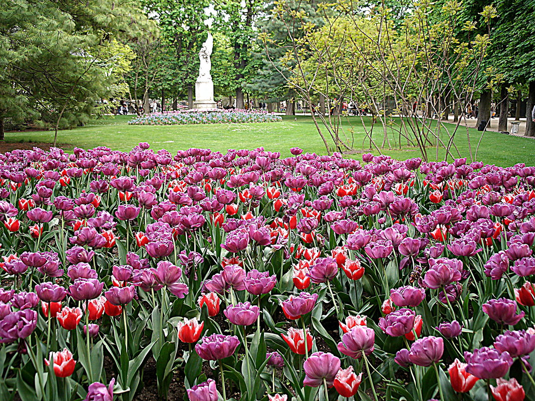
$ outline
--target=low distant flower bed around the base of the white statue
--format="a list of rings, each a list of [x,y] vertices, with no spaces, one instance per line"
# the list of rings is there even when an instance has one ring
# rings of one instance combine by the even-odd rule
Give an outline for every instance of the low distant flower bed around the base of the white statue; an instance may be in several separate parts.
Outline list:
[[[182,124],[230,124],[244,122],[277,122],[279,115],[247,110],[193,110],[152,113],[136,117],[128,124],[135,125],[182,125]]]

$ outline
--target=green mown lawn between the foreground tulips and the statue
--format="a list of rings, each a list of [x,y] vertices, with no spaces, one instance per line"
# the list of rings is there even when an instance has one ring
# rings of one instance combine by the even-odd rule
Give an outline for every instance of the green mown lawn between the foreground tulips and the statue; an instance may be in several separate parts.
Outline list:
[[[253,149],[264,146],[266,150],[280,151],[283,156],[289,155],[292,146],[299,146],[305,152],[325,154],[325,148],[314,122],[310,116],[284,117],[279,123],[261,124],[209,124],[209,125],[177,125],[177,126],[134,126],[128,125],[132,116],[121,115],[98,120],[86,127],[63,130],[58,133],[58,143],[68,144],[66,148],[78,146],[93,148],[94,146],[109,146],[112,149],[128,151],[139,142],[149,142],[153,149],[167,149],[176,152],[179,149],[210,148],[226,151],[227,149]],[[369,125],[370,118],[366,118]],[[346,135],[354,130],[354,147],[357,152],[363,149],[364,130],[358,117],[350,117],[349,122],[343,122]],[[469,129],[472,150],[475,151],[480,133]],[[374,137],[380,143],[383,137],[382,129],[376,125]],[[7,133],[7,142],[41,142],[53,141],[53,131],[35,131],[24,133]],[[456,144],[461,155],[469,156],[467,133],[460,127],[456,134]],[[368,147],[368,142],[364,148]],[[377,153],[373,152],[373,153]],[[398,150],[384,149],[386,155],[407,159],[420,156],[416,149]],[[436,151],[429,149],[430,159],[434,159]],[[503,135],[486,132],[477,155],[478,160],[488,164],[510,166],[515,163],[535,164],[535,140],[531,138]],[[360,158],[360,155],[352,157]],[[439,152],[439,159],[444,157],[444,151]]]

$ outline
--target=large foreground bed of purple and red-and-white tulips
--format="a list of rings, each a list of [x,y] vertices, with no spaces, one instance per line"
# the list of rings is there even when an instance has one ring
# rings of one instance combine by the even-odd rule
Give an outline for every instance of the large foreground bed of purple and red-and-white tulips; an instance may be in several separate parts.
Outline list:
[[[1,155],[0,399],[535,399],[535,168],[292,154]]]

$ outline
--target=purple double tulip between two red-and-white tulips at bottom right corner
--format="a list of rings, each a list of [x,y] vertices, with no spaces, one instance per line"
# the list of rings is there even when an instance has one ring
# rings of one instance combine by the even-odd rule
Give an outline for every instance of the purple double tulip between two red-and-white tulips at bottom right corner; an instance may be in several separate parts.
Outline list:
[[[501,352],[484,346],[473,352],[464,352],[466,371],[479,379],[499,379],[507,374],[513,358],[509,352]]]

